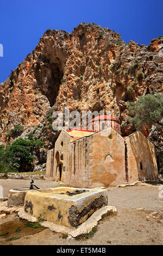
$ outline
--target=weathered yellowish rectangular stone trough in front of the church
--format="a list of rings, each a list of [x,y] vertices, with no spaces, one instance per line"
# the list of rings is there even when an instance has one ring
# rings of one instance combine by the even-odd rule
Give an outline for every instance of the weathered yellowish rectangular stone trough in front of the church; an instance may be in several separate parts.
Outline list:
[[[108,205],[108,197],[104,189],[56,187],[27,192],[24,211],[36,218],[77,228],[105,205]]]

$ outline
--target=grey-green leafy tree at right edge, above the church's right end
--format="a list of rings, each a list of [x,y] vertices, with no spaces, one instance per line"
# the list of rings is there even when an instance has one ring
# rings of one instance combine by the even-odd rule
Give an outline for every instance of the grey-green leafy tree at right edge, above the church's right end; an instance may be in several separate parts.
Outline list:
[[[143,125],[163,126],[163,95],[157,93],[140,96],[137,101],[127,104],[130,117],[129,123],[141,130]]]

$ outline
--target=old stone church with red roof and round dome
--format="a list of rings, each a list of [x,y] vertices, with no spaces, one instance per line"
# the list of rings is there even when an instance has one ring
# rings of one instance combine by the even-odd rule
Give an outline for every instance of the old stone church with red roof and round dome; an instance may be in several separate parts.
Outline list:
[[[154,145],[140,131],[122,137],[120,122],[107,115],[91,125],[61,131],[47,153],[46,179],[92,188],[158,178]]]

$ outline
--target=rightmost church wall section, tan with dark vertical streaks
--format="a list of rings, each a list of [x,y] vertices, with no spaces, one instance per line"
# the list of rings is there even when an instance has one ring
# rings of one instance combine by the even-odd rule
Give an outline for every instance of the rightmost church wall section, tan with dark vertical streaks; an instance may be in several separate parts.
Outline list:
[[[150,181],[158,178],[154,145],[141,133],[126,139],[128,181]]]

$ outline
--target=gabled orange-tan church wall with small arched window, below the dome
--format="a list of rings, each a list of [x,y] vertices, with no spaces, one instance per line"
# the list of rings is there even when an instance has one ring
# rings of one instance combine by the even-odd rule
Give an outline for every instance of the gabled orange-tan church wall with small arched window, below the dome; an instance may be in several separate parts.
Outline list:
[[[91,136],[90,186],[115,186],[126,182],[124,139],[112,128]]]

